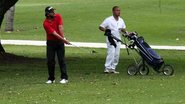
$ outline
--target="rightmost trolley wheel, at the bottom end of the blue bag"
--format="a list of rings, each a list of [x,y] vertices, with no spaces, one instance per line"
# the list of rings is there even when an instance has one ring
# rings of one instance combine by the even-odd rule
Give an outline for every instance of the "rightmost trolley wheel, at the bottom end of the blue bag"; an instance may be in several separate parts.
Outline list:
[[[173,67],[171,65],[164,65],[162,70],[163,74],[167,76],[173,75],[174,73]]]

